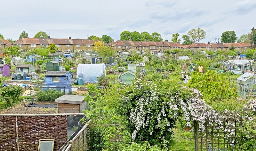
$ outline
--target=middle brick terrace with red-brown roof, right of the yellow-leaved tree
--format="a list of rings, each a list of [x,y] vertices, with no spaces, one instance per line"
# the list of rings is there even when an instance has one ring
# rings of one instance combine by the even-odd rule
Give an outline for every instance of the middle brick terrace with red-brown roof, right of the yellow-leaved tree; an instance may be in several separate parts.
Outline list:
[[[143,52],[147,50],[148,52],[154,52],[154,54],[157,54],[159,52],[163,52],[164,50],[182,49],[180,43],[168,42],[168,40],[165,40],[163,42],[154,40],[132,41],[131,39],[117,40],[115,42],[114,40],[112,40],[108,44],[110,44],[111,47],[113,47],[113,49],[118,52],[131,52],[135,50],[141,50]]]

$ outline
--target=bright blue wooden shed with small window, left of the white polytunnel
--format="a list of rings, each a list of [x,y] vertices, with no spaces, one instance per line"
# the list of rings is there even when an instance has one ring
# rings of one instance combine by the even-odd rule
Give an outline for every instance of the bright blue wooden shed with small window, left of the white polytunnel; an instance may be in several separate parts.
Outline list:
[[[71,73],[69,71],[48,71],[45,75],[44,89],[60,90],[71,92]]]

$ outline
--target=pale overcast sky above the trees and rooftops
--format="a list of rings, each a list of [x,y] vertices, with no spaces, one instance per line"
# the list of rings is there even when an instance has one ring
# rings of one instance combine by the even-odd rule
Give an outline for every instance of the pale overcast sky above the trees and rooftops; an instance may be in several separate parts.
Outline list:
[[[200,27],[208,42],[222,32],[236,37],[256,27],[256,0],[1,0],[0,33],[17,40],[24,30],[28,37],[43,31],[51,38],[87,39],[87,35],[158,32],[163,40]]]

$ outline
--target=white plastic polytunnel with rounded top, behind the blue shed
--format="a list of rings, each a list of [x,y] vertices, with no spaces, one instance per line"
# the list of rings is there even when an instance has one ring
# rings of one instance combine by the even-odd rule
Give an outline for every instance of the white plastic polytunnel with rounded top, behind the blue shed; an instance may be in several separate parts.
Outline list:
[[[76,77],[83,78],[84,83],[95,83],[97,82],[97,77],[100,75],[105,76],[105,64],[78,64],[76,70]]]

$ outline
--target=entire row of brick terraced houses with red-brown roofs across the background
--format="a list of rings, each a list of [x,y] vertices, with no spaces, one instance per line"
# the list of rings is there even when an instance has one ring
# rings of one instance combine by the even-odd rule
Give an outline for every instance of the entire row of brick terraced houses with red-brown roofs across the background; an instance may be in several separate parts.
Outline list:
[[[48,47],[50,44],[54,43],[58,47],[58,51],[62,52],[91,52],[94,48],[93,43],[95,40],[88,39],[72,39],[69,37],[68,39],[52,39],[50,36],[48,38],[21,38],[14,43],[10,43],[7,40],[0,40],[0,51],[3,52],[4,48],[9,46],[18,46],[20,47],[20,51],[36,48],[36,47]],[[163,52],[164,50],[174,50],[174,49],[184,49],[184,50],[225,50],[227,51],[231,45],[236,48],[237,51],[244,51],[247,48],[251,47],[250,43],[218,43],[218,44],[210,44],[210,43],[192,43],[190,45],[183,45],[177,42],[168,42],[165,40],[163,42],[159,41],[132,41],[129,40],[111,40],[109,43],[104,43],[105,46],[111,46],[115,51],[125,52],[125,51],[135,51],[135,50],[148,50],[149,52],[154,52],[157,54],[158,52]]]

